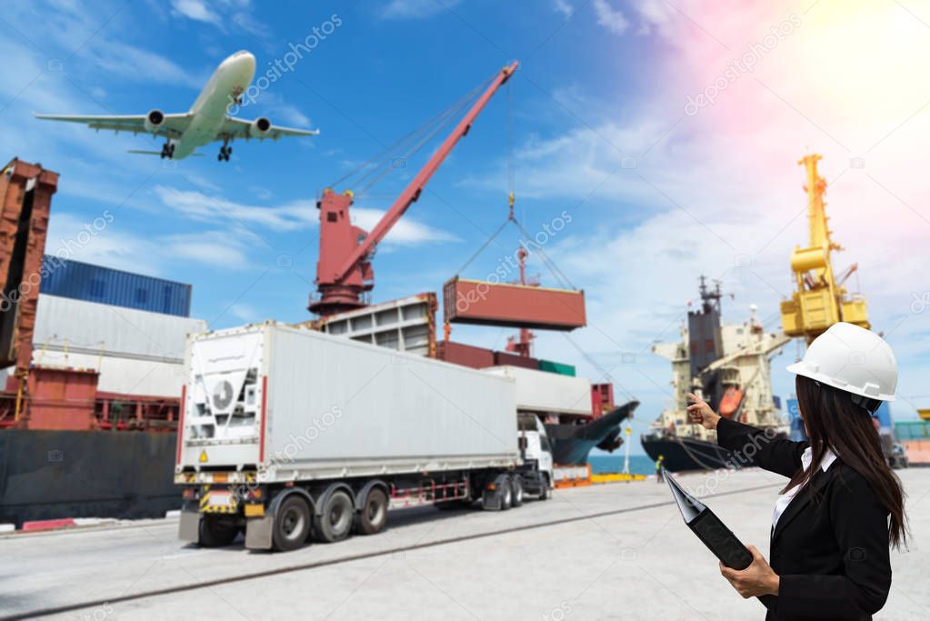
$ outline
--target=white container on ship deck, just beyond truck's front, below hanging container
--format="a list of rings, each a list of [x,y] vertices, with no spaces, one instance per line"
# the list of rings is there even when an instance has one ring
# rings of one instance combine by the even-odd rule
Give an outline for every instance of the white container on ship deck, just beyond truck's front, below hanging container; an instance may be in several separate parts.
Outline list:
[[[591,415],[591,380],[521,366],[492,366],[482,373],[516,381],[517,408],[535,413]]]

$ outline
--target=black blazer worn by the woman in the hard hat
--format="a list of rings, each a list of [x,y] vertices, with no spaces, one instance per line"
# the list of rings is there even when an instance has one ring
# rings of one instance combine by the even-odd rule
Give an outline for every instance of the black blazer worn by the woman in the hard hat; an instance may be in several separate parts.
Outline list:
[[[717,425],[717,442],[786,477],[802,468],[808,446],[728,418]],[[888,510],[842,456],[826,472],[816,468],[810,487],[819,501],[803,490],[772,533],[768,558],[780,582],[777,596],[759,598],[765,618],[871,619],[891,588]]]

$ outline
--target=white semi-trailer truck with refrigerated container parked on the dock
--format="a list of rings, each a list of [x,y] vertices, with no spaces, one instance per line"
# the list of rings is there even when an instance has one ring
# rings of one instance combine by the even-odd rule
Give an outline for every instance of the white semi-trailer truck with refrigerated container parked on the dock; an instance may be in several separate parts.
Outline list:
[[[179,536],[289,550],[384,529],[390,509],[551,495],[512,378],[275,322],[190,337]]]

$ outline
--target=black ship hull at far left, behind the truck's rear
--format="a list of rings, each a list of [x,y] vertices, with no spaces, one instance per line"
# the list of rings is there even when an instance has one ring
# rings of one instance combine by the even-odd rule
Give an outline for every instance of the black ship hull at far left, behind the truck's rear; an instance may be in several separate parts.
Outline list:
[[[179,509],[177,434],[0,430],[0,523],[164,517]]]

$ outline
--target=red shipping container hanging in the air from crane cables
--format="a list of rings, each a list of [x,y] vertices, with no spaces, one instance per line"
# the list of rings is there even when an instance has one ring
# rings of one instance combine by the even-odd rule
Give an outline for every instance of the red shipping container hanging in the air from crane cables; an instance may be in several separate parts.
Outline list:
[[[584,292],[453,278],[443,286],[445,321],[569,331],[587,324]]]

